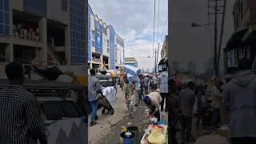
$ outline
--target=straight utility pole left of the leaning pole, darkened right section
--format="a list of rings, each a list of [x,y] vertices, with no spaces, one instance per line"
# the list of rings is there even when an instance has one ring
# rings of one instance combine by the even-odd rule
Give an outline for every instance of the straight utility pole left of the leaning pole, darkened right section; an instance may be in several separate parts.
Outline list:
[[[218,77],[218,66],[217,66],[217,42],[218,42],[218,0],[215,0],[215,22],[214,22],[214,72],[215,77]]]

